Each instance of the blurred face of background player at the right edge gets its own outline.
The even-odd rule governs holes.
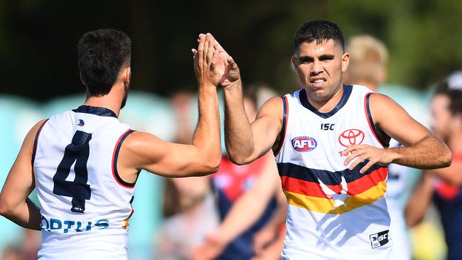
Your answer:
[[[436,94],[431,100],[431,131],[444,141],[448,141],[448,131],[450,129],[451,112],[449,102],[449,97],[445,94]]]

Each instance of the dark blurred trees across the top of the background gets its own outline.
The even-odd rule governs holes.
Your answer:
[[[462,67],[462,2],[406,1],[58,1],[0,0],[2,92],[45,100],[82,92],[78,38],[116,28],[133,40],[132,87],[169,95],[195,90],[190,48],[213,33],[245,82],[296,89],[290,57],[304,21],[325,18],[345,37],[369,33],[390,48],[389,82],[424,88]]]

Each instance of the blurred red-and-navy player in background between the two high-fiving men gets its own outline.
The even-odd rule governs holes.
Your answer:
[[[269,88],[246,88],[244,105],[249,121],[257,115],[260,90]],[[212,175],[212,185],[222,224],[195,249],[193,259],[280,259],[286,199],[271,152],[245,166],[223,156],[220,170]]]

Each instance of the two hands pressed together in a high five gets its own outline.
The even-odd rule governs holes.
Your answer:
[[[212,84],[224,88],[240,84],[239,67],[212,34],[200,33],[198,49],[192,49],[195,77],[200,86]]]

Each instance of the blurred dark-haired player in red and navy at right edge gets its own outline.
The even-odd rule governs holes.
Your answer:
[[[453,152],[448,168],[425,170],[406,208],[409,226],[421,222],[433,199],[448,246],[447,259],[462,259],[462,72],[438,85],[431,101],[431,129]]]

